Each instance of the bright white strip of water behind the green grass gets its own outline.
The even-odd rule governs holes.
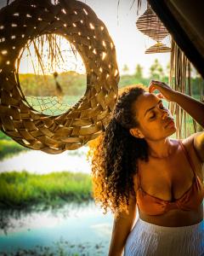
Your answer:
[[[87,160],[88,147],[67,150],[61,154],[47,154],[39,150],[29,150],[0,161],[0,172],[27,172],[45,174],[48,172],[91,172]]]

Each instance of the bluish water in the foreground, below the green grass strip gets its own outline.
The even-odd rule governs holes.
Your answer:
[[[94,202],[78,207],[68,204],[57,211],[30,212],[19,216],[1,212],[1,225],[4,223],[5,226],[0,228],[0,252],[24,250],[26,254],[22,255],[27,255],[27,250],[49,248],[54,251],[61,247],[65,253],[106,255],[112,222],[111,213],[104,215]],[[54,255],[58,254],[55,252]]]

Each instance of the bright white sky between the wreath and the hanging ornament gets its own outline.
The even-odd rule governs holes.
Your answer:
[[[164,69],[167,67],[170,61],[169,53],[144,54],[145,49],[156,44],[156,41],[139,32],[135,25],[139,15],[142,15],[146,8],[145,0],[142,1],[139,15],[137,15],[137,0],[82,0],[82,2],[88,4],[105,23],[116,46],[117,65],[121,74],[124,65],[129,68],[129,73],[134,73],[136,65],[140,64],[144,67],[144,77],[148,77],[150,66],[155,59],[159,60]],[[5,4],[6,0],[0,0],[0,8]],[[167,37],[166,43],[170,44],[170,36]],[[23,66],[22,69],[25,70],[25,67]]]

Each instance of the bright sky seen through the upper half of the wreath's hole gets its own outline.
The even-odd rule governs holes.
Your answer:
[[[75,71],[86,73],[82,57],[66,38],[43,35],[36,38],[20,53],[19,73],[48,74]],[[17,68],[17,63],[16,63]]]

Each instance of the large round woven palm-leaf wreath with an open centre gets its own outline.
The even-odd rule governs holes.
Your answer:
[[[87,72],[87,90],[66,113],[48,116],[26,102],[15,61],[29,40],[59,34],[73,44]],[[50,154],[98,137],[116,103],[116,50],[104,23],[87,4],[15,0],[0,10],[0,128],[17,143]]]

